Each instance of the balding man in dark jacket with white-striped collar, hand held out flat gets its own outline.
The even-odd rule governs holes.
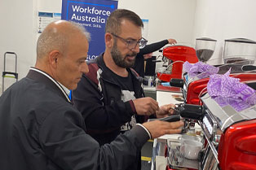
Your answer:
[[[55,21],[38,38],[37,62],[0,98],[0,169],[127,169],[145,142],[179,133],[182,122],[138,124],[99,147],[86,134],[82,114],[68,99],[82,73],[90,34],[77,24]]]

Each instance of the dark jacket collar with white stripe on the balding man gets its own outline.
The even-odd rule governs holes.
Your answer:
[[[34,81],[40,81],[41,83],[51,87],[56,94],[58,94],[61,98],[64,98],[67,102],[71,103],[70,99],[68,98],[68,94],[65,92],[60,83],[55,81],[55,79],[46,72],[43,72],[38,68],[30,68],[26,77],[33,79]]]

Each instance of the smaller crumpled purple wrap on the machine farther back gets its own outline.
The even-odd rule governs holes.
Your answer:
[[[203,79],[216,74],[218,72],[218,68],[207,63],[197,62],[192,64],[186,61],[183,63],[183,71],[188,72],[188,76],[191,78],[197,76],[199,79]]]

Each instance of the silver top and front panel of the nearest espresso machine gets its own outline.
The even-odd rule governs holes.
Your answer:
[[[203,119],[198,123],[204,132],[207,146],[205,149],[204,157],[201,161],[199,169],[219,169],[218,168],[218,142],[220,137],[225,133],[225,130],[245,120],[256,119],[256,106],[249,107],[244,111],[236,111],[231,106],[220,107],[209,94],[201,97],[205,114]]]

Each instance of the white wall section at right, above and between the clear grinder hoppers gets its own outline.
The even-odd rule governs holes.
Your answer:
[[[209,63],[223,63],[225,39],[244,37],[256,41],[255,7],[255,0],[196,0],[193,39],[217,40]]]

